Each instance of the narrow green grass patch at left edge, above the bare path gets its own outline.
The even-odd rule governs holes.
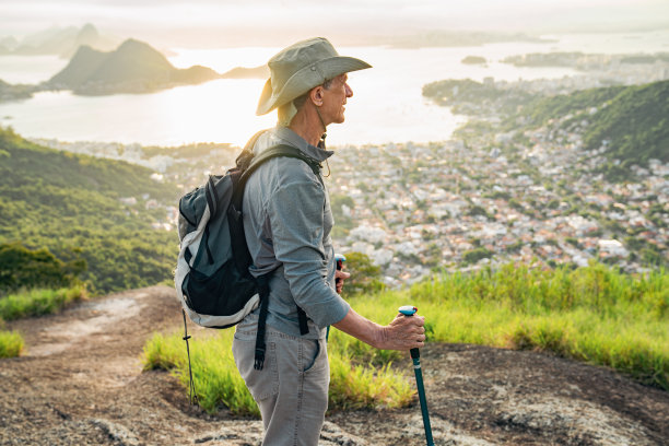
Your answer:
[[[74,285],[60,290],[27,290],[0,297],[0,318],[13,320],[22,317],[56,313],[73,301],[86,298],[86,289]]]

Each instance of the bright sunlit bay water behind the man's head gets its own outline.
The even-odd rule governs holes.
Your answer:
[[[491,44],[471,48],[395,49],[339,48],[374,66],[350,74],[354,96],[347,105],[347,121],[330,126],[333,145],[384,142],[441,141],[450,137],[465,117],[454,116],[421,95],[425,83],[442,79],[481,81],[555,79],[571,69],[516,68],[501,63],[506,56],[555,50],[585,52],[668,51],[669,33],[562,36],[548,44]],[[179,68],[192,64],[225,72],[234,67],[265,63],[279,48],[214,50],[173,49]],[[485,66],[467,66],[466,56],[482,56]],[[37,83],[49,79],[67,61],[56,57],[0,57],[0,79],[10,83]],[[0,104],[0,124],[28,138],[63,141],[116,141],[176,145],[190,142],[243,144],[260,128],[271,127],[275,114],[255,116],[263,80],[216,80],[152,94],[77,96],[45,92],[31,99]]]

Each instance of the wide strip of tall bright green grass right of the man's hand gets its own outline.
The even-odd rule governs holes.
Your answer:
[[[413,304],[432,342],[550,351],[669,390],[669,275],[602,265],[570,270],[507,265],[447,274],[352,305],[374,320]],[[362,305],[361,305],[362,304]]]

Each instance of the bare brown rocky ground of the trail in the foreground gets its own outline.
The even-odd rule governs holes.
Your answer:
[[[206,415],[167,373],[141,372],[145,340],[180,317],[173,290],[154,286],[8,324],[26,352],[0,361],[0,445],[259,445],[258,421]],[[422,363],[437,445],[669,445],[669,392],[605,368],[459,344],[431,344]],[[424,444],[418,404],[330,413],[321,435]]]

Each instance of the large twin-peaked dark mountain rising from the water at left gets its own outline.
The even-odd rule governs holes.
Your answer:
[[[145,93],[218,78],[220,74],[207,67],[177,69],[150,45],[128,39],[110,52],[80,47],[47,86],[92,95]]]

